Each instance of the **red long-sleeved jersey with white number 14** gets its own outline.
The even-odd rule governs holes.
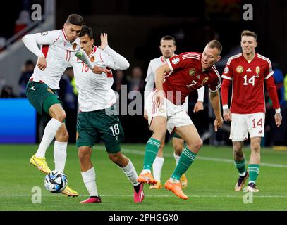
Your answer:
[[[224,79],[221,88],[222,104],[228,104],[228,87],[232,81],[231,113],[264,113],[264,80],[266,80],[274,108],[280,108],[277,94],[274,96],[276,87],[273,73],[270,60],[257,53],[249,63],[242,53],[232,56],[228,59],[222,75]]]

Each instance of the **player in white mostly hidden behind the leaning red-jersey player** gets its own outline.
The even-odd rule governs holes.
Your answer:
[[[159,49],[161,51],[162,56],[159,58],[154,58],[150,60],[148,69],[147,69],[147,77],[145,81],[147,84],[145,85],[145,100],[149,93],[154,89],[154,76],[156,74],[157,68],[159,66],[166,63],[167,58],[171,58],[175,55],[176,51],[176,39],[170,35],[166,35],[161,38],[160,40],[160,46]],[[203,99],[204,99],[204,86],[202,88],[197,89],[197,103],[195,104],[195,107],[193,108],[193,112],[199,112],[200,110],[203,110]],[[183,104],[183,108],[186,112],[188,112],[188,96],[185,98],[185,103]],[[145,119],[147,119],[147,113],[145,109]],[[173,156],[176,160],[176,164],[178,164],[178,160],[181,156],[181,152],[183,151],[183,139],[181,139],[181,136],[178,136],[175,132],[171,134],[173,137],[172,143],[173,143]],[[152,164],[152,172],[154,174],[154,179],[157,180],[157,184],[154,184],[149,187],[149,189],[160,189],[162,188],[161,185],[161,169],[164,165],[164,157],[163,157],[163,150],[164,150],[164,143],[165,143],[165,136],[164,139],[161,140],[161,145],[159,146],[159,151],[157,153],[157,157],[154,160],[154,163]],[[188,179],[186,179],[185,174],[181,176],[181,186],[182,188],[186,188],[188,185]]]

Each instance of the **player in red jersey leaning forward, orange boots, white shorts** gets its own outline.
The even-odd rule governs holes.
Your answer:
[[[210,41],[203,53],[186,52],[166,59],[166,63],[156,70],[156,89],[147,96],[145,108],[152,137],[147,141],[143,170],[138,176],[140,183],[157,184],[151,174],[152,163],[157,156],[161,140],[173,131],[187,143],[181,153],[171,178],[164,187],[179,198],[188,199],[182,189],[180,178],[193,163],[197,152],[202,147],[202,140],[195,125],[183,109],[185,97],[200,87],[208,85],[210,101],[216,119],[214,129],[217,131],[223,124],[220,110],[219,88],[221,77],[214,63],[220,59],[222,46],[219,41]]]

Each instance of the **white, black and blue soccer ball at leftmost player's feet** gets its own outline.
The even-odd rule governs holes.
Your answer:
[[[44,186],[51,193],[59,193],[63,191],[67,184],[67,176],[57,170],[53,170],[45,176]]]

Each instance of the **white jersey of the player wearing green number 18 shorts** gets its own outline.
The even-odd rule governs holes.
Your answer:
[[[111,69],[126,70],[129,67],[126,58],[123,58],[109,46],[106,46],[104,50],[94,46],[88,58],[92,65],[106,68],[109,73],[94,74],[85,63],[77,57],[73,58],[72,65],[81,112],[102,110],[114,105],[116,95],[114,90],[111,89],[114,82]]]

